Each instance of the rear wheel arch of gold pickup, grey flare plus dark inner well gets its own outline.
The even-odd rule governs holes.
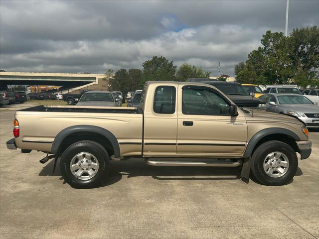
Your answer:
[[[103,142],[105,142],[112,147],[115,157],[120,157],[120,146],[114,134],[105,128],[94,125],[74,125],[63,129],[55,136],[52,143],[51,152],[54,154],[59,153],[63,142],[65,142],[68,137],[75,135],[80,135],[76,141],[92,140],[101,143],[102,145]],[[94,140],[94,138],[98,140]],[[106,147],[105,143],[103,145],[104,147]],[[108,151],[109,148],[106,147],[106,149]]]

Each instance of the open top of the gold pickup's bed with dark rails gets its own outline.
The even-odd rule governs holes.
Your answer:
[[[70,112],[70,113],[114,113],[142,114],[134,107],[95,107],[95,106],[35,106],[19,111],[26,112]]]

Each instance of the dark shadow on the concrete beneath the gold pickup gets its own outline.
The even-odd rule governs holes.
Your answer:
[[[59,179],[63,180],[59,170],[59,160],[55,172],[52,172],[53,161],[51,160],[43,167],[39,176],[60,176]],[[125,176],[127,178],[151,176],[156,180],[239,180],[241,178],[240,173],[241,167],[150,166],[144,162],[144,159],[132,158],[127,161],[111,161],[109,175],[100,187],[117,183]],[[302,174],[302,170],[298,168],[296,176]]]

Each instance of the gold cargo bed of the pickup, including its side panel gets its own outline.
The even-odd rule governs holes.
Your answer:
[[[143,114],[137,108],[36,106],[16,111],[15,119],[20,124],[20,135],[15,138],[15,144],[21,149],[51,152],[58,133],[86,125],[114,134],[122,156],[141,155],[142,152]]]

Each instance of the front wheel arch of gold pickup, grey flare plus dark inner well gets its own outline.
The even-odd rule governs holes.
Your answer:
[[[292,146],[292,148],[294,148],[294,150],[297,152],[298,147],[296,141],[300,141],[301,139],[295,132],[287,128],[265,128],[258,131],[249,140],[243,157],[249,158],[258,145],[269,140],[283,141]]]

